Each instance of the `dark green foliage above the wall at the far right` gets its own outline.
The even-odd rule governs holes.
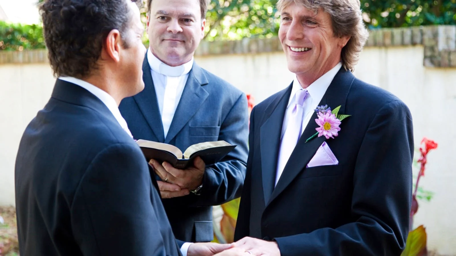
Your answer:
[[[456,0],[361,0],[369,28],[456,24]]]

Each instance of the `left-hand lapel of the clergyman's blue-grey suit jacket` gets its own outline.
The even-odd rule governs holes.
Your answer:
[[[163,132],[160,108],[158,107],[157,94],[155,93],[154,81],[152,80],[152,74],[150,73],[147,55],[143,62],[143,80],[144,90],[133,96],[133,98],[135,99],[136,104],[138,104],[140,111],[150,128],[155,133],[158,142],[164,142],[165,132]]]

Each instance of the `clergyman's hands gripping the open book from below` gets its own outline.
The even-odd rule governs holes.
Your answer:
[[[202,184],[206,169],[206,164],[200,157],[195,158],[193,166],[188,169],[176,169],[167,162],[160,164],[154,159],[150,159],[149,164],[162,180],[157,181],[161,198],[188,195],[190,190],[196,189]]]

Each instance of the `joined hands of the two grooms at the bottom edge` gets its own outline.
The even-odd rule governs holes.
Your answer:
[[[231,244],[195,243],[187,256],[280,256],[280,251],[276,242],[244,237]]]

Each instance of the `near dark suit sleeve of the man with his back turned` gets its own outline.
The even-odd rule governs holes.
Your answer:
[[[115,144],[99,153],[71,205],[73,234],[82,254],[165,256],[160,231],[169,223],[157,219],[154,208],[163,206],[152,193],[156,191],[138,148]]]

